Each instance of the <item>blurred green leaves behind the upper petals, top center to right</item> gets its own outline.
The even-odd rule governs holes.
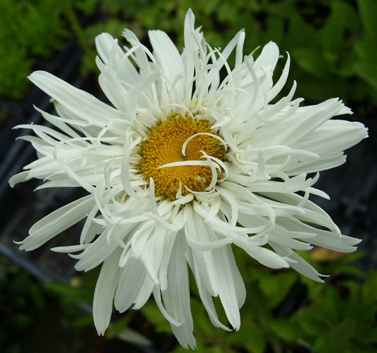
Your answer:
[[[362,102],[377,104],[375,7],[369,0],[103,0],[100,9],[108,21],[93,28],[110,28],[117,37],[130,28],[144,41],[149,29],[159,28],[182,48],[182,23],[192,8],[212,46],[224,47],[241,28],[246,30],[245,52],[274,40],[284,56],[291,54],[298,96],[309,101],[340,96],[362,113]],[[87,30],[90,37],[93,28]]]

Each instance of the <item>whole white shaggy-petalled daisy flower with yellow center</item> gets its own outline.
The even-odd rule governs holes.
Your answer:
[[[355,250],[359,240],[308,197],[327,197],[313,188],[318,172],[344,163],[343,151],[367,135],[361,123],[330,120],[351,113],[339,99],[299,106],[296,82],[276,99],[289,72],[287,56],[273,82],[276,44],[244,56],[241,30],[224,50],[212,48],[194,20],[188,11],[182,53],[160,30],[149,32],[152,50],[130,30],[124,48],[98,35],[99,83],[112,106],[47,72],[31,74],[57,116],[37,108],[53,128],[18,126],[37,135],[24,139],[38,159],[10,180],[88,192],[35,223],[20,249],[85,219],[79,245],[53,250],[78,259],[79,271],[102,265],[93,300],[100,334],[113,305],[141,308],[153,294],[180,344],[192,348],[189,268],[211,323],[238,330],[246,293],[232,245],[250,261],[315,281],[321,275],[295,250]],[[216,296],[230,327],[216,315]]]

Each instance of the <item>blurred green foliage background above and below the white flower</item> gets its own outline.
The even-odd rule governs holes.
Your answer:
[[[147,31],[158,28],[182,48],[190,7],[213,47],[224,47],[245,28],[245,54],[269,40],[282,55],[289,52],[289,82],[297,80],[296,96],[306,102],[339,96],[358,116],[376,114],[374,0],[1,0],[1,103],[22,103],[31,89],[28,74],[47,69],[69,40],[81,47],[82,77],[97,74],[94,38],[103,31],[120,38],[130,28],[145,42]],[[332,273],[323,285],[294,271],[259,267],[235,251],[248,288],[241,329],[213,327],[193,285],[199,352],[377,351],[377,272],[356,267],[362,252],[304,254],[321,273]],[[115,315],[108,334],[97,337],[91,313],[83,310],[92,301],[95,271],[63,285],[37,281],[6,257],[0,258],[0,269],[0,352],[185,352],[175,347],[153,301],[141,311]]]

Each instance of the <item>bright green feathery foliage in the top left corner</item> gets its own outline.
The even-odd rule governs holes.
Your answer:
[[[0,1],[0,95],[20,99],[38,57],[51,57],[68,35],[59,1]]]

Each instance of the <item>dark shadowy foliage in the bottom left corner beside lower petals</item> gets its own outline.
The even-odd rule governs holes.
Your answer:
[[[92,303],[97,277],[93,270],[69,285],[45,284],[0,254],[0,352],[52,352],[51,347],[57,353],[129,352],[112,338],[142,342],[124,330],[136,313],[132,310],[113,320],[106,338],[98,337],[93,315],[80,308]]]

